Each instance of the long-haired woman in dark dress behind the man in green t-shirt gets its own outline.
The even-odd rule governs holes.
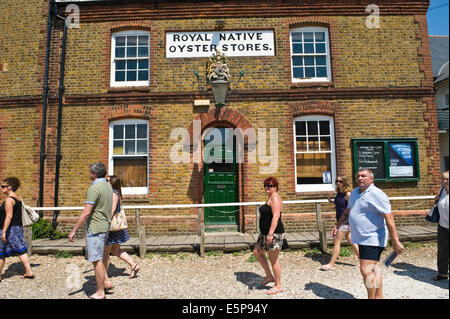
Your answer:
[[[113,208],[112,208],[112,216],[114,214],[120,213],[120,206],[122,205],[122,190],[121,190],[121,182],[120,178],[116,175],[112,175],[109,178],[109,183],[113,189]],[[103,264],[105,265],[105,269],[108,272],[108,268],[110,265],[109,255],[112,253],[114,256],[119,257],[123,261],[125,261],[131,267],[130,278],[136,277],[140,267],[136,264],[133,259],[128,255],[125,251],[120,249],[120,245],[125,243],[128,239],[130,239],[130,235],[126,229],[119,231],[110,231],[108,235],[108,240],[105,246],[105,252],[103,254]],[[105,287],[112,287],[109,278],[105,280]]]

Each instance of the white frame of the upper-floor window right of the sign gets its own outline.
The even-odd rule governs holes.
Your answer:
[[[324,32],[325,33],[325,54],[317,54],[317,53],[295,53],[293,50],[293,42],[292,42],[292,33],[293,32]],[[304,43],[304,42],[303,42]],[[313,42],[315,43],[315,42]],[[325,27],[300,27],[291,29],[289,32],[289,47],[291,51],[291,81],[293,83],[304,83],[304,82],[331,82],[331,59],[330,59],[330,38],[328,34],[328,29]],[[314,78],[294,78],[294,63],[292,61],[293,56],[317,56],[324,55],[326,57],[327,64],[327,77],[314,77]]]

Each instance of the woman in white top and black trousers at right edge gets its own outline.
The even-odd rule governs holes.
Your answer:
[[[443,189],[441,196],[436,196],[439,209],[438,226],[438,274],[433,280],[448,279],[449,256],[448,256],[448,171],[442,173]]]

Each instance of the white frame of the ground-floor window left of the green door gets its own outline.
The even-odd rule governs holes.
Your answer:
[[[127,125],[127,124],[146,124],[147,125],[147,154],[146,155],[114,155],[114,126],[115,125]],[[147,186],[145,187],[122,187],[123,195],[146,195],[148,194],[149,187],[149,125],[148,121],[140,119],[127,119],[127,120],[117,120],[109,123],[109,165],[108,174],[114,175],[114,158],[133,158],[133,157],[147,157]],[[125,145],[124,145],[125,147]]]

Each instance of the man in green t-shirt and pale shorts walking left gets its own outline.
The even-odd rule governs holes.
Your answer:
[[[90,178],[93,182],[87,191],[84,209],[69,235],[69,241],[73,242],[77,230],[86,223],[86,251],[88,260],[94,264],[97,281],[97,292],[89,296],[92,299],[104,299],[105,288],[111,288],[105,287],[106,270],[102,261],[111,223],[113,201],[112,187],[105,177],[106,167],[103,163],[98,162],[90,166]]]

